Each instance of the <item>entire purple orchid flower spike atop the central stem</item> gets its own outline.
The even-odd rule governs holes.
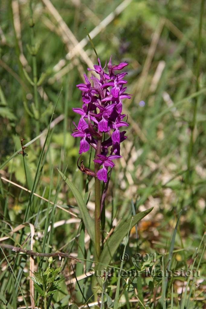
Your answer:
[[[116,74],[116,71],[122,70],[127,65],[127,62],[112,65],[110,57],[106,72],[106,63],[102,67],[98,58],[98,64],[94,65],[94,69],[88,70],[95,71],[99,74],[99,78],[92,75],[90,82],[84,74],[85,83],[77,85],[82,91],[83,105],[82,108],[73,108],[73,111],[80,115],[80,119],[77,126],[74,123],[75,130],[71,135],[80,137],[79,154],[87,152],[90,146],[95,149],[95,172],[92,173],[83,163],[78,167],[84,173],[104,182],[107,181],[108,168],[114,167],[113,160],[121,158],[120,144],[127,138],[126,131],[120,131],[121,127],[128,126],[127,121],[123,121],[126,115],[122,114],[122,100],[131,98],[126,93],[127,87],[124,87],[127,83],[124,79],[127,72]],[[103,132],[104,141],[102,141]],[[102,165],[102,168],[99,169],[96,163]]]

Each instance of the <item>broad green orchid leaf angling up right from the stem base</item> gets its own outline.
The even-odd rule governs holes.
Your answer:
[[[131,223],[131,228],[135,226],[142,218],[144,218],[147,214],[149,214],[152,211],[153,207],[150,209],[147,209],[145,211],[140,212],[139,214],[136,214],[133,216],[133,220]],[[99,262],[102,264],[109,264],[112,257],[114,256],[114,253],[117,251],[120,243],[122,242],[122,239],[127,235],[128,229],[130,227],[131,218],[129,218],[126,222],[123,222],[121,226],[117,227],[117,229],[114,231],[113,235],[107,240],[105,243],[105,247],[101,253]],[[97,270],[103,269],[104,265],[98,265]]]

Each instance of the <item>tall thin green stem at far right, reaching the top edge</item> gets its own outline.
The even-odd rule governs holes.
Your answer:
[[[198,56],[197,56],[197,66],[196,66],[196,91],[199,91],[199,75],[200,75],[200,54],[201,54],[201,43],[202,43],[202,22],[203,22],[203,14],[204,14],[204,2],[205,0],[201,1],[200,6],[200,23],[199,23],[199,35],[198,35]],[[188,150],[188,159],[187,159],[187,177],[186,177],[186,183],[189,183],[190,180],[190,169],[191,169],[191,157],[193,153],[193,147],[194,147],[194,132],[195,132],[195,125],[196,125],[196,117],[197,117],[197,104],[198,104],[197,97],[195,99],[194,109],[193,109],[193,119],[191,122],[191,136],[190,136],[190,144],[189,144],[189,150]]]

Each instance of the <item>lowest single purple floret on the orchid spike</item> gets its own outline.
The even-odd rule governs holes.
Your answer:
[[[99,159],[94,159],[93,161],[96,163],[99,163],[103,167],[97,172],[97,178],[99,180],[103,180],[104,182],[107,182],[107,171],[108,167],[111,168],[115,166],[115,164],[112,162],[114,159],[122,158],[121,155],[109,155],[108,157],[105,155],[98,155]]]

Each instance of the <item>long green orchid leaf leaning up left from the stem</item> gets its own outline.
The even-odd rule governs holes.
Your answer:
[[[57,169],[58,170],[58,169]],[[87,205],[85,204],[81,193],[79,192],[79,190],[75,187],[74,184],[72,184],[72,182],[70,180],[68,180],[68,178],[61,172],[59,171],[59,174],[62,176],[63,180],[66,181],[67,185],[69,186],[71,192],[73,193],[75,200],[77,202],[77,205],[79,206],[79,210],[82,216],[82,220],[84,222],[84,225],[86,227],[86,230],[90,236],[90,238],[92,239],[93,243],[94,243],[94,221],[92,220],[88,209],[87,209]]]

